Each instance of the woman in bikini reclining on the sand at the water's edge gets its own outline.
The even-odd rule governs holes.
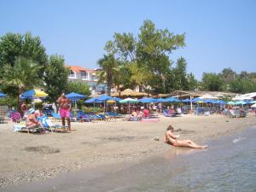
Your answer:
[[[164,137],[164,143],[173,145],[175,147],[185,147],[185,148],[207,148],[207,145],[198,145],[190,140],[177,140],[179,135],[175,136],[173,134],[174,128],[172,125],[169,125],[166,129],[166,134]]]

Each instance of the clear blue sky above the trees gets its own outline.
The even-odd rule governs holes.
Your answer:
[[[0,0],[0,36],[32,32],[47,54],[64,55],[69,65],[95,68],[114,32],[137,34],[143,20],[186,33],[183,56],[188,72],[231,67],[256,72],[256,1],[240,0]]]

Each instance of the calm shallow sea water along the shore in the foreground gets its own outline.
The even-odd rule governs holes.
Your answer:
[[[206,150],[175,148],[137,165],[69,173],[4,191],[256,191],[256,127],[207,144]]]

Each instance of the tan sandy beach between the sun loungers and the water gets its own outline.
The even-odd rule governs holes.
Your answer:
[[[199,144],[229,136],[256,125],[255,114],[231,119],[223,115],[163,117],[155,122],[73,123],[71,133],[27,134],[13,132],[14,123],[0,125],[0,185],[27,183],[102,165],[136,163],[173,147],[163,143],[167,125],[181,139]],[[160,141],[156,141],[159,137]],[[211,150],[209,146],[208,150]]]

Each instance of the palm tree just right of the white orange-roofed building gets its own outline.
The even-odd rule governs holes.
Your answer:
[[[111,94],[111,89],[115,84],[119,86],[120,82],[120,67],[119,61],[114,58],[113,55],[104,55],[102,59],[98,61],[100,70],[96,73],[99,78],[97,84],[107,83],[108,96]]]

